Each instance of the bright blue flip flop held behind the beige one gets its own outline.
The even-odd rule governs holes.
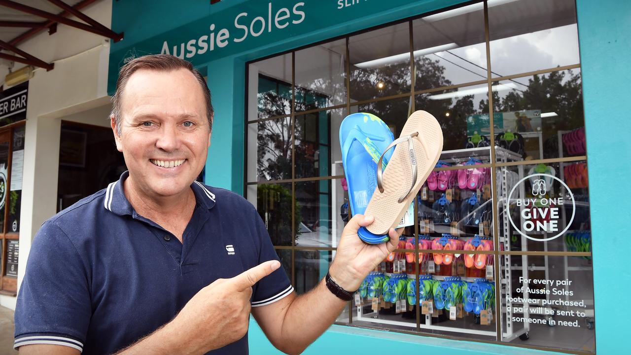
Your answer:
[[[339,127],[339,143],[342,148],[342,164],[348,183],[348,199],[353,214],[363,214],[377,188],[377,161],[394,141],[390,128],[374,114],[356,113],[346,116]],[[384,155],[386,161],[393,150]],[[368,244],[386,243],[390,238],[361,227],[357,232]]]

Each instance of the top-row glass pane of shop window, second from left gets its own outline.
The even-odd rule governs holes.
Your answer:
[[[346,40],[297,51],[296,111],[346,104]]]

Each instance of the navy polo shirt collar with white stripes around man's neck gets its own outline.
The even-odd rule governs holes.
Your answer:
[[[110,183],[105,190],[103,207],[117,215],[133,215],[134,213],[134,208],[123,191],[123,183],[127,178],[129,178],[129,171],[123,172],[121,178],[114,181],[114,183]],[[198,205],[208,209],[215,207],[215,194],[211,193],[204,184],[193,181],[191,189],[195,194],[195,200]]]

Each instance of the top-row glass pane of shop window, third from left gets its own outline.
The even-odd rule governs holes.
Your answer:
[[[350,37],[351,103],[410,92],[410,25]]]

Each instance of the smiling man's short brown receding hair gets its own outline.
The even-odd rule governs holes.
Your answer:
[[[204,93],[204,99],[206,100],[206,117],[208,118],[208,127],[213,130],[213,116],[215,111],[213,110],[213,104],[211,102],[210,90],[206,85],[206,80],[199,73],[198,69],[193,68],[192,64],[184,59],[180,59],[168,54],[150,54],[147,56],[138,57],[129,61],[129,63],[122,66],[119,71],[119,78],[116,81],[116,91],[112,96],[112,112],[110,117],[114,117],[116,121],[117,134],[121,135],[121,101],[122,94],[124,92],[125,85],[129,77],[136,73],[139,69],[149,69],[155,71],[174,71],[177,69],[187,69],[198,80],[199,87]]]

